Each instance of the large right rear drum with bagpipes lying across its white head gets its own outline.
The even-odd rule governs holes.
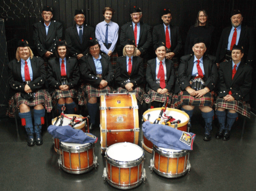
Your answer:
[[[154,121],[158,118],[160,111],[161,111],[161,108],[153,108],[151,110],[145,111],[143,114],[143,120],[147,121],[147,116],[148,116],[148,114],[150,114],[149,121],[150,121],[150,123],[154,123]],[[164,114],[167,117],[164,117]],[[164,112],[164,114],[162,115],[162,118],[158,124],[162,124],[162,122],[165,121],[168,118],[168,116],[172,116],[175,119],[175,121],[181,120],[181,122],[179,124],[176,124],[176,125],[172,124],[169,126],[179,129],[181,131],[188,132],[188,121],[189,121],[188,114],[186,114],[184,111],[172,109],[172,108],[166,108],[166,111]],[[143,133],[142,133],[142,136],[143,136],[142,137],[143,148],[147,152],[152,153],[153,152],[153,143],[151,143],[151,141],[147,140],[147,138],[143,135]]]

